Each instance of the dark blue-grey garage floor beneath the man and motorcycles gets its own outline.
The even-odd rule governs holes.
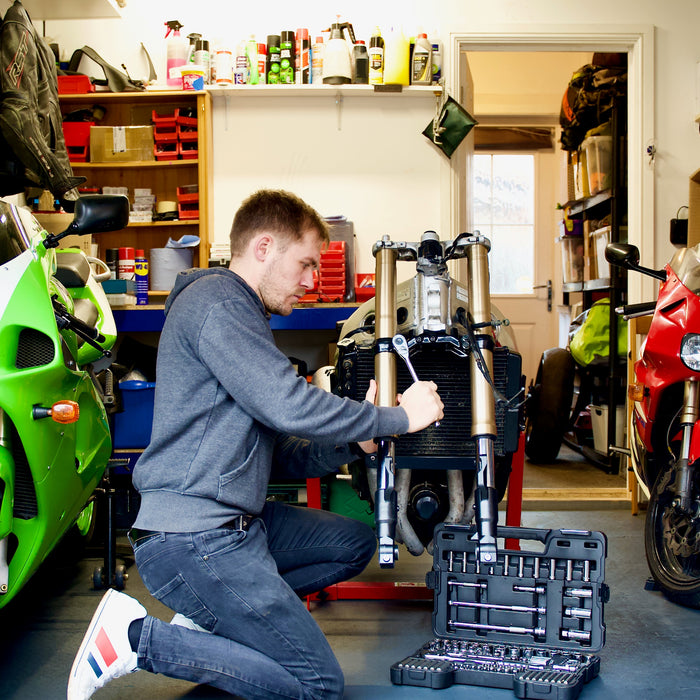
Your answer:
[[[584,686],[586,700],[697,697],[700,664],[696,645],[700,611],[668,602],[647,591],[642,540],[643,515],[628,509],[524,511],[523,525],[541,528],[601,530],[608,537],[606,582],[611,599],[605,608],[607,641],[599,653],[600,675]],[[8,608],[0,611],[0,698],[54,700],[65,698],[68,672],[86,625],[101,596],[92,590],[98,558],[53,558]],[[402,549],[394,570],[372,565],[368,581],[424,580],[430,558],[411,557]],[[170,613],[152,599],[135,567],[129,569],[126,592],[151,614]],[[432,601],[333,601],[313,603],[312,612],[328,636],[346,676],[349,700],[451,700],[479,697],[504,700],[512,691],[453,686],[429,690],[392,686],[391,664],[432,637]],[[190,683],[138,672],[98,691],[102,700],[126,697],[149,700],[223,698],[223,693]]]

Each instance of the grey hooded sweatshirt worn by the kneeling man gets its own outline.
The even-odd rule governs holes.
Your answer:
[[[401,407],[299,377],[262,301],[231,270],[180,273],[165,313],[153,432],[133,475],[135,527],[199,532],[257,515],[271,475],[323,476],[353,459],[348,443],[408,430]]]

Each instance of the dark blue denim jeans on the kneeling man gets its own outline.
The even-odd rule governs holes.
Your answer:
[[[375,547],[356,520],[276,502],[247,531],[140,540],[136,564],[151,594],[213,634],[149,615],[139,668],[247,700],[342,697],[340,665],[300,596],[360,573]]]

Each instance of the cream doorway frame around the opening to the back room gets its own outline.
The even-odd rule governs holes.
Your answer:
[[[628,55],[627,198],[628,240],[636,245],[650,267],[654,266],[654,170],[646,163],[646,150],[654,144],[654,26],[653,25],[546,25],[492,31],[450,32],[447,89],[460,94],[468,51],[585,51],[624,52]],[[562,95],[566,86],[562,86]],[[468,227],[466,158],[450,161],[449,201],[446,220],[454,235]],[[631,275],[627,285],[630,303],[655,296],[654,282]]]

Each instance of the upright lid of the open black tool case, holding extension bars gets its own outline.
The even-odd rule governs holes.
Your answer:
[[[474,527],[435,529],[433,631],[450,640],[589,653],[605,643],[607,540],[601,532],[498,528],[499,538],[533,541],[478,560]]]

